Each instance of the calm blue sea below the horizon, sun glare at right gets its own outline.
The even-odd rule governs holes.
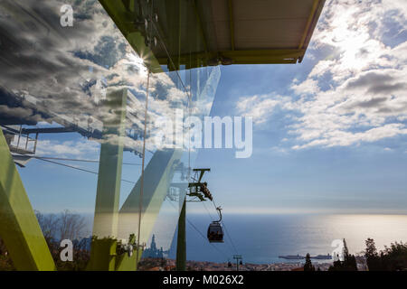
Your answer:
[[[345,238],[351,254],[363,254],[364,241],[374,238],[378,250],[393,242],[407,242],[407,215],[224,215],[224,243],[210,244],[207,215],[189,214],[186,222],[188,260],[244,263],[301,262],[279,256],[333,255]],[[193,225],[191,225],[193,224]],[[176,232],[169,257],[176,256]],[[303,261],[302,261],[303,262]],[[332,262],[332,260],[313,260]]]

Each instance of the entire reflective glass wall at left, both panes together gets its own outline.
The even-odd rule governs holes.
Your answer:
[[[1,154],[24,183],[24,218],[39,220],[29,233],[73,241],[77,269],[111,270],[129,268],[128,241],[144,256],[168,252],[199,149],[191,117],[209,114],[220,70],[201,67],[208,43],[192,1],[101,3],[0,3]],[[134,15],[130,40],[109,5]],[[12,256],[11,236],[30,229],[17,225],[0,236]],[[94,261],[116,239],[116,266]]]

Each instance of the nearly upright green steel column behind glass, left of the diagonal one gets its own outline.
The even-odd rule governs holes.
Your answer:
[[[102,107],[103,143],[90,250],[90,270],[115,270],[127,89],[110,92]]]

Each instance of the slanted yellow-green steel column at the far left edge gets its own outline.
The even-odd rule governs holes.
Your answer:
[[[0,129],[0,237],[17,270],[55,270],[50,250]]]

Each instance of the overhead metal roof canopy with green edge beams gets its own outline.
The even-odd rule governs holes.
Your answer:
[[[167,64],[175,70],[183,64],[194,68],[301,62],[325,4],[325,0],[153,1],[158,16],[153,37],[160,43],[150,53],[145,43],[131,42],[132,33],[147,35],[140,25],[148,17],[147,4],[143,12],[144,1],[99,1],[147,66]]]

